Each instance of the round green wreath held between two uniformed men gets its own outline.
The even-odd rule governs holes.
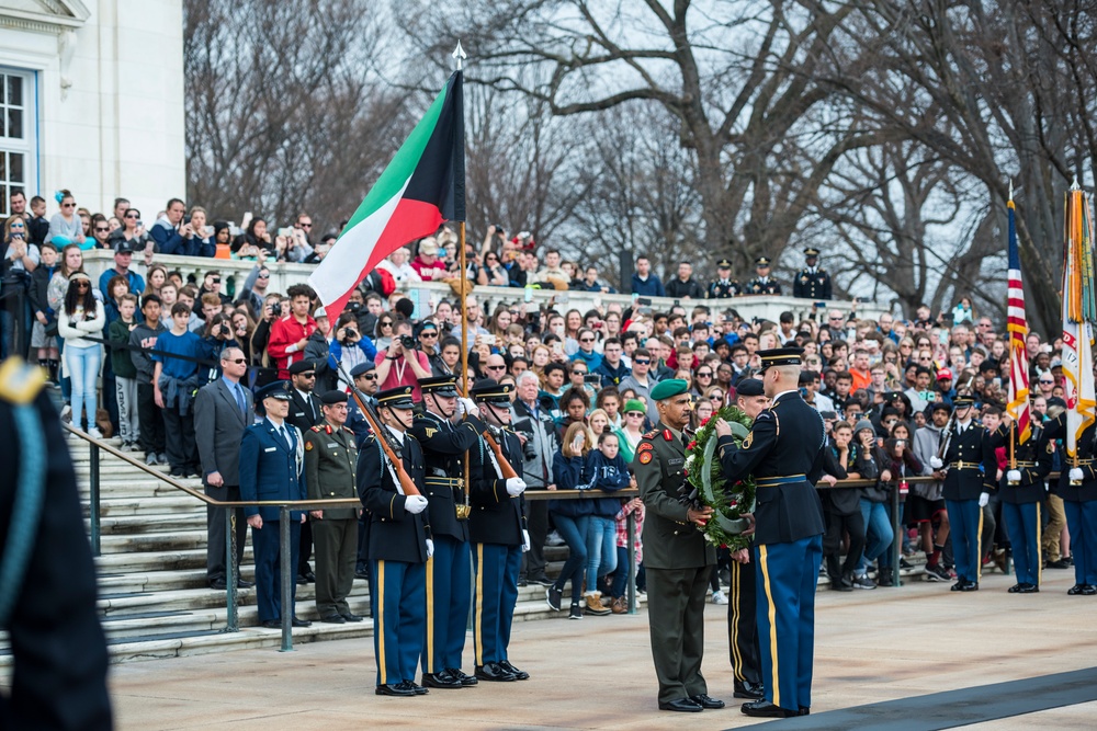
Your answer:
[[[727,484],[716,456],[716,419],[723,419],[731,425],[732,438],[738,446],[743,445],[754,425],[754,420],[734,406],[723,407],[701,422],[693,441],[687,445],[686,479],[697,488],[701,504],[713,511],[712,519],[701,528],[704,539],[736,551],[750,544],[750,536],[742,535],[749,526],[743,514],[754,512],[757,486],[751,477]]]

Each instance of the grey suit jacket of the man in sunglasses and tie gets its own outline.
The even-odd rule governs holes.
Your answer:
[[[194,397],[194,441],[202,460],[202,475],[220,472],[225,484],[240,484],[240,439],[251,424],[255,403],[251,391],[244,390],[245,410],[236,402],[224,378],[206,384]]]

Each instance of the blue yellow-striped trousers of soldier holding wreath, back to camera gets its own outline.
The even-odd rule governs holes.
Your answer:
[[[815,584],[823,562],[823,536],[760,544],[756,558],[758,640],[766,700],[787,710],[810,708]]]

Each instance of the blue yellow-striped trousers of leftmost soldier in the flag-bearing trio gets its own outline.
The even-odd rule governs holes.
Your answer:
[[[374,561],[377,586],[373,650],[377,685],[415,681],[427,629],[427,568],[423,563]]]

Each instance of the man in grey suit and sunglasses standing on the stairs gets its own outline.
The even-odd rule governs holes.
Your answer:
[[[248,361],[239,347],[226,347],[220,353],[222,377],[199,389],[194,397],[194,436],[202,461],[205,492],[214,500],[240,499],[240,437],[251,424],[255,404],[251,391],[241,382]],[[206,506],[206,580],[211,589],[226,586],[225,513],[227,509]],[[255,586],[239,578],[248,523],[242,507],[233,509],[236,528],[236,576],[240,589]]]

